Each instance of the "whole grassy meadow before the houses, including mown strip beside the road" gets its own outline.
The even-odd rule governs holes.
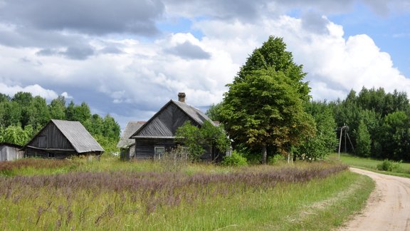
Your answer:
[[[256,165],[0,163],[2,230],[331,230],[374,183],[335,162]]]

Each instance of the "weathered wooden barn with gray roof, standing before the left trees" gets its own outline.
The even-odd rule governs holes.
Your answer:
[[[101,155],[104,149],[78,121],[50,120],[23,148],[24,157]]]

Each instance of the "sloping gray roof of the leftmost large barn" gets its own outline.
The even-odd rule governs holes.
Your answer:
[[[70,141],[77,153],[104,151],[97,140],[88,133],[88,130],[80,122],[68,120],[51,120],[51,122]]]

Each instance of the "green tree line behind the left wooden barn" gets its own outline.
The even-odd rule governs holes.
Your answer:
[[[66,103],[58,96],[50,103],[41,96],[19,92],[10,97],[0,93],[0,142],[25,145],[51,119],[80,121],[106,151],[115,150],[120,138],[120,125],[112,116],[91,114],[83,102]]]

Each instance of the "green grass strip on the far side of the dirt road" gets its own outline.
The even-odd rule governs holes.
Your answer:
[[[337,153],[332,153],[328,156],[328,160],[338,160]],[[340,161],[346,165],[354,168],[362,168],[364,170],[371,170],[376,173],[382,173],[387,175],[396,175],[404,178],[410,178],[410,163],[400,163],[399,168],[389,171],[377,170],[377,165],[383,162],[383,160],[376,160],[372,158],[360,158],[347,153],[340,153]]]

